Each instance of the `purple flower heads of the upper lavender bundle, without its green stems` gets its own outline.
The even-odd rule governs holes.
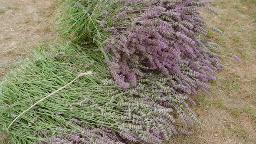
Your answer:
[[[111,33],[104,41],[112,54],[110,72],[122,88],[136,84],[148,69],[158,70],[170,79],[177,92],[196,94],[206,91],[207,81],[220,60],[210,52],[208,42],[198,38],[206,35],[206,23],[197,7],[206,7],[200,0],[124,1],[125,7],[115,16]],[[121,24],[120,24],[121,23]],[[220,31],[211,26],[212,29]]]

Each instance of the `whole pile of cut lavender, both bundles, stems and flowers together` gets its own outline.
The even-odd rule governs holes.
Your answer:
[[[0,89],[13,143],[161,144],[199,124],[189,105],[220,60],[203,39],[201,0],[61,0],[60,32],[79,43],[40,52]],[[223,34],[220,29],[210,29]],[[6,126],[43,96],[93,70]],[[4,118],[4,119],[2,119]]]

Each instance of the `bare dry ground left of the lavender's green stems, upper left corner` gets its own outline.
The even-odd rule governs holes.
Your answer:
[[[54,0],[0,0],[0,77],[38,42],[52,41]]]

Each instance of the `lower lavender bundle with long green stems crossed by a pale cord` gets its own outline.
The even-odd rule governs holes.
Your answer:
[[[162,75],[151,74],[124,90],[95,49],[76,50],[71,44],[54,49],[35,54],[1,86],[0,125],[13,143],[161,144],[173,135],[191,134],[187,125],[200,124],[187,95],[175,93]],[[5,128],[35,101],[88,70],[93,75],[79,78]]]

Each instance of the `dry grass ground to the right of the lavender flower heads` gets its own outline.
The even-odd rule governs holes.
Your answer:
[[[173,141],[256,144],[256,0],[213,0],[211,7],[220,15],[205,13],[203,17],[225,33],[209,33],[208,37],[220,44],[216,52],[226,68],[211,82],[210,95],[194,98],[195,111],[205,126]]]

